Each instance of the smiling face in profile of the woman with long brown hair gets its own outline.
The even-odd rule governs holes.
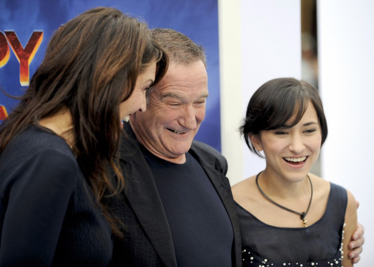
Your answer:
[[[129,116],[137,111],[144,112],[146,110],[145,92],[154,82],[156,73],[156,63],[147,66],[141,74],[139,74],[135,89],[126,101],[119,104],[120,124],[122,120],[129,120]]]

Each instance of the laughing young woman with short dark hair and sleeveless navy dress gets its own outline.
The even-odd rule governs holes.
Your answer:
[[[266,160],[264,171],[232,187],[243,266],[352,266],[355,198],[309,173],[327,138],[317,90],[293,78],[266,82],[251,97],[240,131]]]

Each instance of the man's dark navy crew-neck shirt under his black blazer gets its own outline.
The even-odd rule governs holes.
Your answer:
[[[231,266],[227,252],[233,246],[232,225],[199,162],[190,153],[184,164],[175,164],[143,152],[169,222],[178,266]]]

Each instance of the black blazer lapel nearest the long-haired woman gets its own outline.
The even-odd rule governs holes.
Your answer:
[[[123,169],[126,196],[162,261],[166,266],[176,266],[174,245],[160,195],[130,125],[127,131],[130,140],[122,139],[126,146],[122,146],[119,156],[126,161]]]

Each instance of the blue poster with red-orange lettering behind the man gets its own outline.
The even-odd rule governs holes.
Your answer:
[[[41,63],[53,31],[98,6],[117,8],[150,28],[173,28],[205,48],[209,97],[196,139],[221,151],[217,0],[2,0],[0,87],[4,92],[21,95]],[[18,103],[6,94],[0,91],[0,120]]]

